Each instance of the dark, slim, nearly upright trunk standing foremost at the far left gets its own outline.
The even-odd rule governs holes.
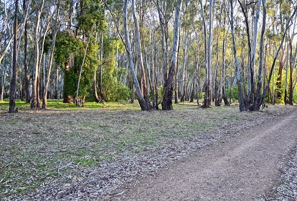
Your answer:
[[[9,97],[9,113],[15,113],[15,93],[16,93],[16,57],[17,57],[17,11],[18,11],[18,0],[15,1],[15,12],[14,12],[14,38],[13,38],[13,58],[12,58],[12,76],[10,82],[10,97]]]

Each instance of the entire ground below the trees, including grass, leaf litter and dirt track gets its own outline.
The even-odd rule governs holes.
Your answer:
[[[296,106],[19,111],[0,113],[1,200],[296,200]]]

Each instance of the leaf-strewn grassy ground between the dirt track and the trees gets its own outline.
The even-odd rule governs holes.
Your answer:
[[[168,168],[201,147],[236,137],[245,128],[276,121],[292,109],[269,106],[239,113],[237,106],[179,105],[173,111],[48,109],[0,114],[0,198],[108,200],[138,178]],[[296,186],[296,180],[290,183]]]

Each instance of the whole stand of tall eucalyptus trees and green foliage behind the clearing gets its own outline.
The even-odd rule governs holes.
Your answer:
[[[1,1],[0,96],[46,108],[138,99],[297,102],[296,1]],[[295,37],[296,38],[296,37]]]

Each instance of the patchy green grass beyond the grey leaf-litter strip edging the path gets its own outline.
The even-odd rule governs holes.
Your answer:
[[[0,102],[0,199],[80,176],[103,161],[141,155],[173,139],[212,136],[262,115],[189,103],[174,104],[173,111],[141,111],[137,102],[76,107],[59,100],[49,100],[47,110],[16,101],[20,112],[7,115],[8,104]],[[72,168],[63,168],[68,164]]]

